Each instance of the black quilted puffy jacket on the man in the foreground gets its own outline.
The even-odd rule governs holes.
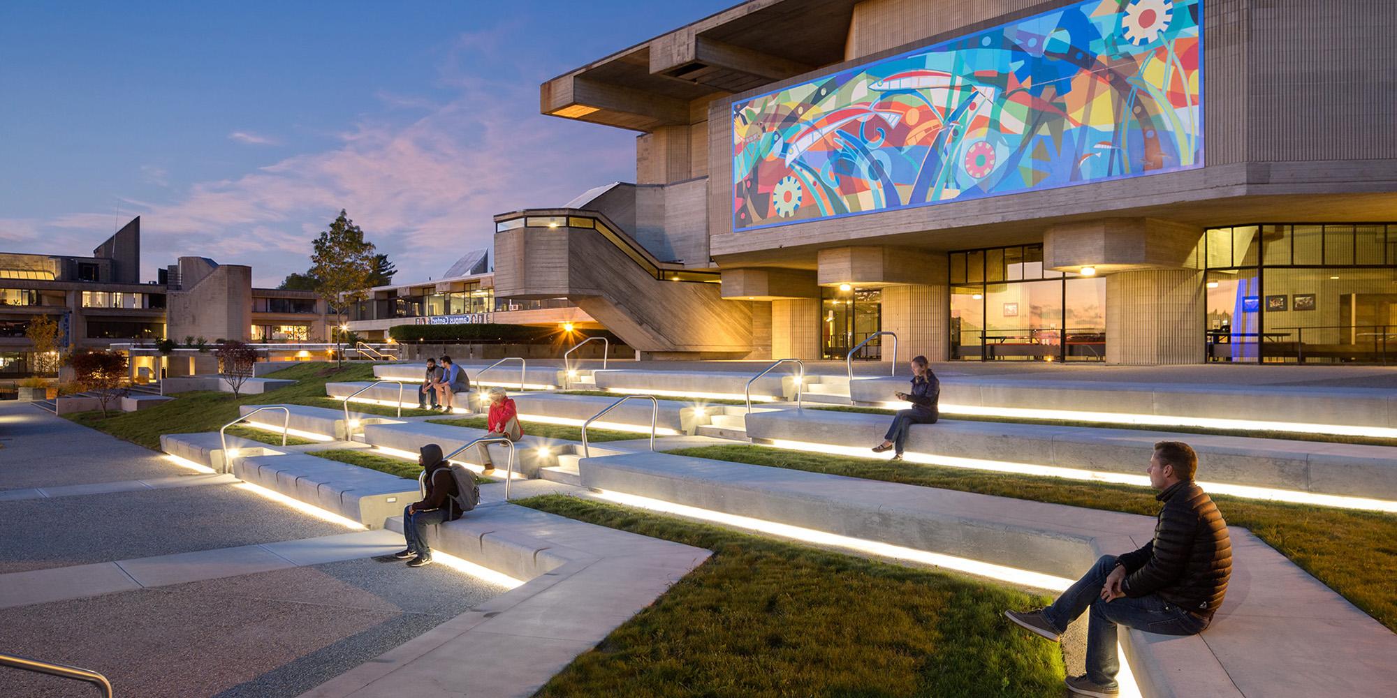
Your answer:
[[[1118,558],[1129,572],[1126,596],[1157,593],[1180,609],[1211,617],[1232,575],[1227,522],[1197,483],[1171,484],[1155,498],[1164,508],[1154,525],[1154,540]]]

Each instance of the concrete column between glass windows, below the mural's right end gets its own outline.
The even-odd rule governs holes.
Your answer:
[[[1106,276],[1106,363],[1203,363],[1203,272],[1127,271]]]

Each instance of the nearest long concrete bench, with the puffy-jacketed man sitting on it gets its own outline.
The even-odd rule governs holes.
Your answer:
[[[583,484],[967,557],[1067,579],[1148,542],[1154,519],[780,468],[657,454],[581,461]],[[1227,512],[1224,511],[1224,515]],[[1201,635],[1120,634],[1146,697],[1387,695],[1397,634],[1248,530]]]

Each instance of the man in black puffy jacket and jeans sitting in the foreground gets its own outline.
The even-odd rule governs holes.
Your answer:
[[[1213,500],[1193,482],[1199,456],[1182,441],[1154,444],[1150,484],[1164,503],[1154,540],[1120,557],[1102,556],[1046,609],[1006,611],[1009,620],[1052,641],[1091,610],[1087,673],[1067,677],[1074,695],[1118,695],[1116,625],[1162,635],[1203,632],[1222,604],[1232,574],[1232,542]]]

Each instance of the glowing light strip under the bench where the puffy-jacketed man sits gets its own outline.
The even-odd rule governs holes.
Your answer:
[[[942,567],[946,570],[956,570],[958,572],[986,577],[990,579],[999,579],[1023,586],[1032,586],[1037,589],[1060,592],[1063,589],[1067,589],[1073,584],[1073,579],[1034,572],[1030,570],[1018,570],[1014,567],[996,565],[990,563],[982,563],[979,560],[970,560],[965,557],[946,556],[940,553],[930,553],[926,550],[916,550],[912,547],[894,546],[890,543],[880,543],[877,540],[840,536],[835,533],[827,533],[824,530],[791,526],[788,524],[778,524],[775,521],[766,521],[750,517],[739,517],[736,514],[726,514],[722,511],[703,510],[698,507],[689,507],[685,504],[675,504],[662,500],[652,500],[650,497],[640,497],[636,494],[624,494],[619,491],[602,490],[599,493],[595,493],[594,496],[601,500],[613,501],[616,504],[623,504],[627,507],[637,507],[643,510],[657,511],[661,514],[672,514],[700,521],[711,521],[714,524],[722,524],[747,530],[757,530],[760,533],[799,540],[802,543],[841,547],[845,550],[855,550],[859,553],[872,554],[877,557],[887,557],[893,560],[908,560],[912,563]],[[1139,698],[1140,687],[1134,680],[1134,674],[1130,671],[1130,663],[1126,659],[1125,651],[1119,646],[1116,648],[1116,656],[1120,658],[1120,674],[1116,676],[1116,681],[1120,683],[1120,695]]]

